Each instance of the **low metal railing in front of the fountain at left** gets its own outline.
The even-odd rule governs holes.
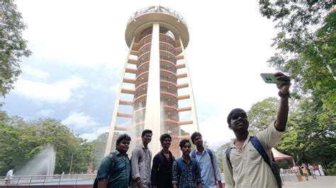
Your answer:
[[[31,175],[0,177],[0,187],[13,186],[45,186],[45,185],[77,185],[94,184],[96,174],[87,175]]]

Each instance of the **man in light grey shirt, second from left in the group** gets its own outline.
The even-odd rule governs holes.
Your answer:
[[[150,172],[152,151],[148,143],[152,141],[152,131],[145,129],[141,134],[142,143],[132,151],[130,163],[132,166],[132,182],[130,187],[150,187]]]

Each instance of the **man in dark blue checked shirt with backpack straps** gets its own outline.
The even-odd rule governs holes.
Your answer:
[[[198,168],[197,162],[190,154],[190,141],[183,139],[179,142],[182,151],[182,157],[173,163],[173,187],[181,188],[201,188],[201,170]]]

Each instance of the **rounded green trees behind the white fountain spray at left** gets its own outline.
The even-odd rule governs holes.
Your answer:
[[[55,119],[26,122],[20,117],[10,117],[0,121],[0,143],[0,175],[6,175],[9,167],[23,167],[48,144],[56,151],[58,174],[69,172],[72,155],[72,171],[86,172],[94,155],[91,143]]]

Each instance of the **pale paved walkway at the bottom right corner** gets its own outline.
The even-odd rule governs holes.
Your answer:
[[[336,188],[336,176],[318,176],[318,179],[313,179],[309,177],[307,181],[304,177],[302,182],[285,182],[283,187],[294,188],[294,187],[323,187],[323,188]]]

